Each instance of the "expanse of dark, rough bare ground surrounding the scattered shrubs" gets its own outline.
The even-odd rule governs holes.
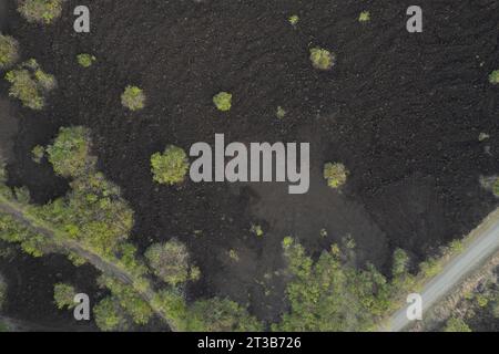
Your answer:
[[[177,237],[189,244],[203,273],[193,298],[228,295],[275,320],[284,306],[274,273],[283,237],[294,235],[317,253],[352,235],[359,263],[387,270],[395,247],[421,260],[497,206],[479,184],[499,167],[499,90],[487,80],[499,66],[497,1],[421,0],[420,34],[405,30],[413,3],[400,0],[85,3],[90,34],[72,30],[81,1],[68,1],[63,19],[43,29],[11,18],[24,58],[37,58],[59,81],[45,111],[20,111],[13,183],[28,185],[40,202],[61,195],[65,183],[33,164],[30,150],[60,126],[91,127],[101,169],[135,210],[135,242],[145,249]],[[371,21],[360,24],[364,9]],[[296,29],[287,22],[293,13]],[[335,51],[333,71],[312,67],[315,45]],[[98,62],[83,70],[75,56],[85,52]],[[128,84],[144,88],[145,110],[121,106]],[[212,104],[220,91],[234,95],[230,113]],[[288,112],[282,121],[279,105]],[[490,139],[479,143],[481,132]],[[215,133],[233,142],[310,142],[310,192],[152,181],[153,153],[211,143]],[[329,160],[352,171],[342,194],[320,177]],[[263,226],[262,239],[249,232],[252,222]]]

